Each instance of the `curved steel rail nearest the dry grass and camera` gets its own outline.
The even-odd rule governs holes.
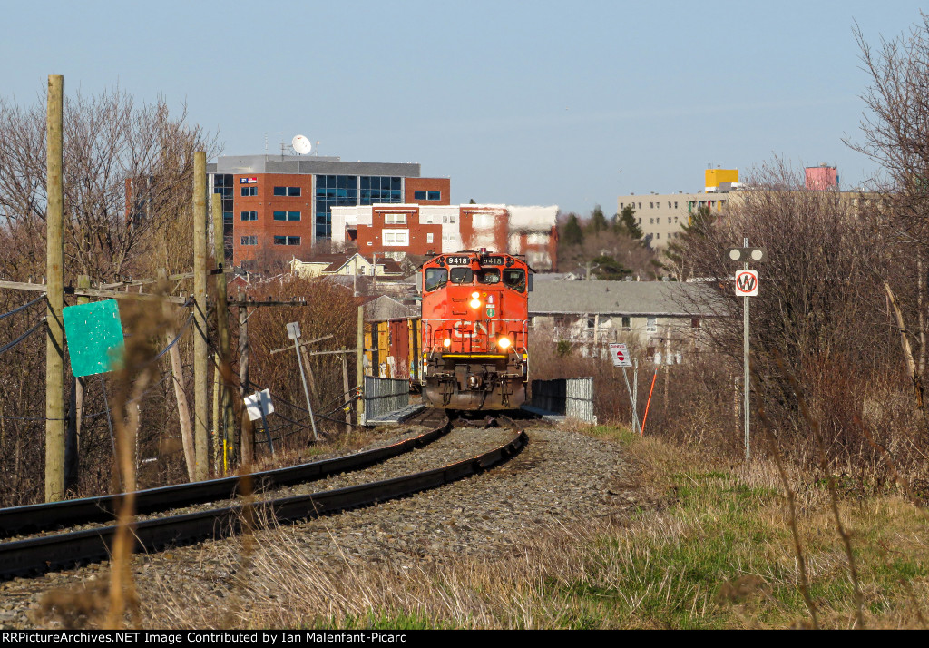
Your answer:
[[[520,430],[510,442],[490,452],[442,468],[306,496],[290,496],[257,502],[254,505],[237,504],[223,509],[146,520],[135,523],[132,533],[139,549],[152,552],[241,533],[242,529],[247,527],[244,522],[246,519],[269,521],[255,524],[256,528],[263,528],[277,522],[317,518],[341,510],[410,496],[464,479],[516,456],[526,443],[529,443],[529,438],[525,431]],[[249,507],[253,510],[249,511]],[[44,574],[77,564],[106,560],[110,557],[111,543],[118,528],[112,525],[0,543],[0,580]]]

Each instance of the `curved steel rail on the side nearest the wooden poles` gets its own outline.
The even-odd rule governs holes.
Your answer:
[[[412,439],[392,443],[354,455],[337,456],[290,468],[253,472],[249,488],[251,492],[268,490],[294,483],[312,482],[329,475],[373,466],[394,456],[409,452],[427,443],[432,443],[451,430],[451,421],[446,420],[434,430],[429,430]],[[244,477],[236,475],[206,482],[182,483],[136,492],[136,512],[154,513],[177,509],[192,504],[203,504],[241,495],[246,490]],[[123,494],[66,499],[60,502],[30,504],[9,509],[0,509],[0,537],[59,529],[88,522],[110,522],[115,520]]]

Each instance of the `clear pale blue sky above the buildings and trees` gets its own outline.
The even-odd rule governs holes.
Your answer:
[[[451,200],[611,214],[629,192],[697,191],[708,164],[774,155],[875,166],[859,139],[868,84],[855,21],[878,44],[912,2],[15,3],[0,92],[37,100],[119,84],[187,104],[227,154],[419,162]]]

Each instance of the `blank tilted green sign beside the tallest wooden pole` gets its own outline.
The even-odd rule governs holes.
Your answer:
[[[93,376],[123,364],[123,323],[115,299],[68,306],[61,312],[75,377]]]

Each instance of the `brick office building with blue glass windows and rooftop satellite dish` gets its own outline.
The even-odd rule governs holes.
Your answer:
[[[247,270],[325,247],[335,206],[449,205],[451,199],[451,180],[421,178],[418,164],[232,155],[207,165],[207,172],[209,192],[222,196],[227,258]]]

